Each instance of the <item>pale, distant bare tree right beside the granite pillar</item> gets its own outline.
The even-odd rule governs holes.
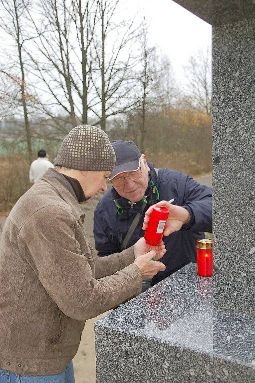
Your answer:
[[[209,47],[204,51],[199,49],[191,55],[188,64],[184,66],[188,93],[186,101],[195,108],[212,113],[212,65]]]

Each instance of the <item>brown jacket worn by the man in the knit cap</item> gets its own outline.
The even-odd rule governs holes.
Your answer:
[[[11,210],[0,242],[0,369],[60,373],[86,319],[141,291],[133,247],[93,259],[83,220],[71,185],[54,169]]]

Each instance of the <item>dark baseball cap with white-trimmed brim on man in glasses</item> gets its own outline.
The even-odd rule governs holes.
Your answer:
[[[125,172],[135,172],[140,168],[141,153],[133,141],[114,140],[112,143],[116,155],[115,167],[109,177],[114,177]]]

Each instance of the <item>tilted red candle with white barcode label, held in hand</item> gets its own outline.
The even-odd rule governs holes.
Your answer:
[[[169,215],[169,210],[164,206],[153,206],[144,238],[148,245],[158,246],[163,238],[163,231]]]

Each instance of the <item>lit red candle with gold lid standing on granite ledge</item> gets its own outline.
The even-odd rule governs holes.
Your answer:
[[[213,275],[213,241],[198,239],[197,241],[198,275],[211,277]]]

